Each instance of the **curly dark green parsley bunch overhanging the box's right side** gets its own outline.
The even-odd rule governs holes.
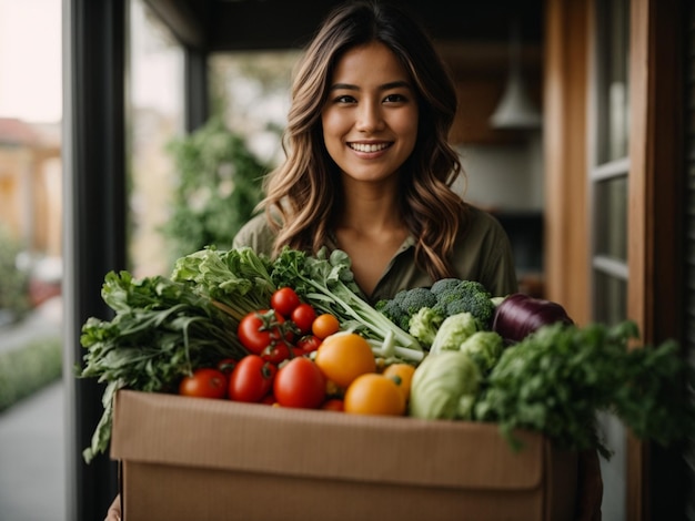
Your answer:
[[[596,413],[617,416],[639,439],[666,446],[695,428],[694,369],[678,345],[629,348],[633,321],[586,327],[554,324],[505,349],[476,405],[476,418],[513,430],[541,431],[562,447],[610,449],[596,430]]]

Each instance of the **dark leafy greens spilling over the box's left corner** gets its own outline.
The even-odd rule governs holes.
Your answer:
[[[103,415],[83,451],[87,462],[108,447],[118,389],[168,391],[194,368],[245,353],[234,320],[185,284],[110,272],[101,295],[115,316],[84,323],[80,343],[87,353],[75,367],[79,378],[108,382]]]

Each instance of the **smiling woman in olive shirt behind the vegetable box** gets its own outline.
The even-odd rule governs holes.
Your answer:
[[[395,7],[348,3],[309,45],[292,88],[286,161],[234,246],[345,251],[371,302],[444,277],[516,290],[508,238],[452,190],[456,93],[427,35]]]

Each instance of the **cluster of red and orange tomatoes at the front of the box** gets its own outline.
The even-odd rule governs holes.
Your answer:
[[[290,287],[273,293],[268,309],[239,323],[249,351],[184,377],[184,396],[356,413],[405,413],[414,367],[377,370],[369,343],[341,331],[331,314],[316,314]]]

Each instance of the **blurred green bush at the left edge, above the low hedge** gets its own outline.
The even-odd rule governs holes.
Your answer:
[[[4,226],[0,225],[0,309],[21,318],[31,308],[29,274],[18,269],[16,260],[21,246]]]

